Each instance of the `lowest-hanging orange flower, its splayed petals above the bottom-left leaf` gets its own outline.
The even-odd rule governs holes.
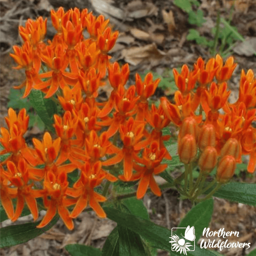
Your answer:
[[[75,204],[76,200],[67,198],[67,188],[68,180],[65,172],[47,172],[44,179],[44,190],[42,191],[44,206],[47,208],[47,211],[43,220],[36,226],[37,228],[43,228],[47,225],[52,220],[57,210],[66,227],[69,230],[74,228],[74,223],[69,217],[67,207]]]

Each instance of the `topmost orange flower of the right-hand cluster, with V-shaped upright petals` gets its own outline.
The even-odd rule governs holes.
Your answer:
[[[215,61],[218,63],[218,69],[216,71],[215,77],[220,84],[230,79],[237,64],[234,64],[233,57],[229,57],[228,60],[226,60],[225,65],[223,66],[223,60],[219,54],[216,55]]]

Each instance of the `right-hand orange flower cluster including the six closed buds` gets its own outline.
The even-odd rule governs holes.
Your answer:
[[[198,161],[204,174],[217,166],[219,182],[233,176],[242,155],[250,155],[248,172],[254,172],[256,165],[256,129],[252,126],[256,120],[256,79],[251,69],[247,74],[242,70],[239,98],[230,104],[227,81],[235,68],[233,57],[224,65],[219,54],[206,64],[199,58],[192,71],[187,65],[183,65],[180,74],[173,70],[179,88],[175,92],[175,104],[161,98],[165,114],[180,127],[180,161],[184,164]],[[220,109],[225,114],[220,114]],[[196,158],[198,148],[199,159]]]

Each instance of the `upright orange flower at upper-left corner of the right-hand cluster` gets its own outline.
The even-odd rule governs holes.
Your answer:
[[[172,71],[175,84],[183,95],[186,95],[195,87],[199,73],[199,69],[197,67],[194,67],[194,70],[189,72],[188,66],[183,65],[180,74],[175,68],[173,68]]]

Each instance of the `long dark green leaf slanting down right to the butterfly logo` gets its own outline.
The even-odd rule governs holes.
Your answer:
[[[109,219],[116,221],[118,225],[131,229],[133,232],[139,234],[143,239],[150,241],[151,246],[171,252],[172,256],[180,256],[180,252],[172,251],[171,243],[169,243],[171,240],[169,237],[172,233],[169,229],[158,226],[150,220],[144,220],[140,217],[121,212],[117,209],[104,207],[104,211],[107,213],[107,217]],[[211,251],[204,248],[201,249],[197,245],[195,247],[195,251],[188,251],[187,255],[215,256]]]

